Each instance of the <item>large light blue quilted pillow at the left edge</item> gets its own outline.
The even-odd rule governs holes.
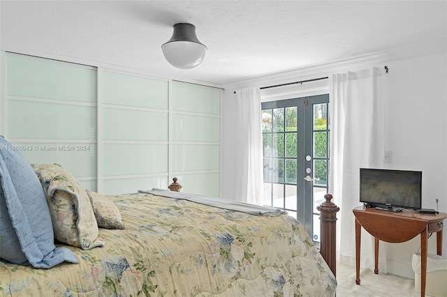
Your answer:
[[[78,263],[68,248],[54,245],[47,199],[29,162],[0,136],[0,258],[13,264],[51,268]]]

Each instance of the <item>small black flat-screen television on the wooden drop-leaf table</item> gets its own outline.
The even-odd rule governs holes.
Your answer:
[[[360,202],[372,207],[420,209],[422,172],[360,168]]]

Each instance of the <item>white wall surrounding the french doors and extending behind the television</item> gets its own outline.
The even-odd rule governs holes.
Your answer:
[[[222,189],[223,198],[234,194],[235,164],[235,89],[247,86],[270,86],[285,82],[328,76],[347,70],[372,66],[388,66],[386,103],[386,150],[392,151],[393,169],[423,171],[423,207],[447,212],[447,50],[432,50],[427,54],[393,53],[362,61],[334,63],[293,73],[260,77],[225,87],[223,93]],[[336,197],[335,197],[336,199]],[[447,222],[446,222],[447,224]],[[429,252],[435,252],[434,237]],[[413,277],[411,257],[417,252],[420,238],[407,243],[387,244],[388,273]],[[447,255],[447,235],[444,231],[443,254]]]

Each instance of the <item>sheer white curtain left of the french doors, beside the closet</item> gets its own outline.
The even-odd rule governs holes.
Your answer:
[[[235,200],[261,205],[263,142],[261,94],[258,88],[236,91]]]

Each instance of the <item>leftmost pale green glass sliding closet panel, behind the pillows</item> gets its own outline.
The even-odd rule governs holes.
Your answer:
[[[2,52],[6,139],[96,190],[96,68]]]

